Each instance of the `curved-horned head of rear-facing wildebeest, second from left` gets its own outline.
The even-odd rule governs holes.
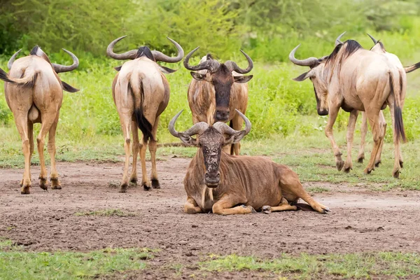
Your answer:
[[[116,38],[114,41],[112,41],[108,45],[108,48],[106,48],[106,54],[109,55],[109,57],[112,57],[113,59],[118,59],[118,60],[137,59],[139,57],[147,57],[148,59],[151,59],[154,62],[160,61],[160,62],[168,62],[168,63],[179,62],[183,58],[183,55],[184,55],[183,48],[181,47],[181,45],[179,45],[179,43],[176,43],[176,41],[172,40],[172,38],[169,38],[169,37],[167,37],[168,40],[171,41],[175,45],[176,50],[178,50],[178,55],[176,55],[176,57],[169,57],[158,50],[151,50],[147,46],[141,46],[137,50],[129,50],[128,52],[123,52],[120,54],[113,52],[113,48],[116,45],[116,43],[118,43],[118,41],[122,40],[125,37],[127,36]],[[158,66],[160,67],[160,70],[163,73],[174,73],[176,71],[174,69],[169,69],[164,66],[160,66],[160,65]],[[121,66],[116,67],[117,71],[120,71],[120,69],[121,69]]]

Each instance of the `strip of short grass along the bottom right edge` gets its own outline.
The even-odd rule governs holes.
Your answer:
[[[296,279],[370,278],[375,275],[405,277],[420,275],[418,253],[352,253],[307,255],[263,260],[251,256],[211,255],[200,262],[200,269],[209,272],[267,271]]]

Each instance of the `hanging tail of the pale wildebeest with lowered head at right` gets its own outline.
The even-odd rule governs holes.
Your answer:
[[[398,74],[397,74],[398,73]],[[394,95],[394,129],[397,138],[401,137],[402,141],[406,142],[404,124],[402,123],[401,110],[401,92],[402,92],[402,77],[399,71],[391,72],[389,76],[389,83],[391,86],[391,94]]]

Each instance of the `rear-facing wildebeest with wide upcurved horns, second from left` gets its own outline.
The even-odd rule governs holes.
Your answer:
[[[122,54],[113,52],[113,47],[125,36],[112,41],[106,53],[114,59],[132,59],[123,66],[117,67],[118,73],[112,84],[112,95],[120,116],[124,134],[125,165],[120,193],[125,193],[128,186],[128,167],[130,165],[130,132],[133,134],[133,166],[130,181],[137,183],[137,154],[140,151],[141,185],[145,190],[160,188],[156,172],[156,132],[160,114],[165,111],[169,102],[169,83],[163,73],[173,73],[174,70],[160,66],[158,61],[175,63],[183,58],[183,49],[179,43],[168,38],[176,49],[176,57],[168,57],[157,50],[143,46],[138,50],[130,50]],[[139,132],[143,133],[143,144],[139,145]],[[149,147],[152,160],[151,181],[146,172],[146,148]]]

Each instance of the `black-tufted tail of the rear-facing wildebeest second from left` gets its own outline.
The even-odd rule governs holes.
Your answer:
[[[133,77],[129,83],[130,90],[134,97],[134,117],[141,133],[143,133],[144,142],[147,143],[149,139],[155,140],[152,134],[152,125],[144,116],[143,102],[144,102],[144,85],[140,77]]]

